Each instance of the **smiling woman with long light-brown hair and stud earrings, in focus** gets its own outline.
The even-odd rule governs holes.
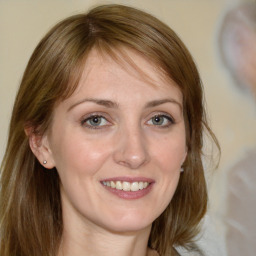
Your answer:
[[[1,167],[9,255],[176,255],[207,208],[196,66],[142,11],[107,5],[57,24],[15,101]]]

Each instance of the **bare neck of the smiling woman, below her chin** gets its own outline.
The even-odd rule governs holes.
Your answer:
[[[136,232],[111,232],[93,224],[86,229],[64,227],[58,256],[148,255],[151,226]]]

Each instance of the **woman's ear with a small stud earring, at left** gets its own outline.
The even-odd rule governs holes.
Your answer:
[[[55,167],[52,151],[49,145],[47,134],[42,135],[35,132],[33,127],[25,128],[29,140],[29,146],[41,165],[47,169]]]

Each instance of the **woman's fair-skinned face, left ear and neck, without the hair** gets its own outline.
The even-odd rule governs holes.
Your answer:
[[[30,140],[39,161],[60,176],[59,256],[150,255],[152,222],[176,190],[187,154],[182,94],[146,59],[127,53],[146,76],[92,50],[40,145]]]

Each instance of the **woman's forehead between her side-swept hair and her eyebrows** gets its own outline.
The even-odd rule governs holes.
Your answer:
[[[88,83],[96,85],[101,82],[104,86],[106,80],[114,79],[116,81],[125,78],[136,80],[141,85],[152,86],[159,90],[173,90],[173,87],[176,87],[176,90],[180,92],[179,86],[159,65],[142,54],[123,47],[111,53],[92,49],[83,66],[83,73],[76,93],[79,93]]]

